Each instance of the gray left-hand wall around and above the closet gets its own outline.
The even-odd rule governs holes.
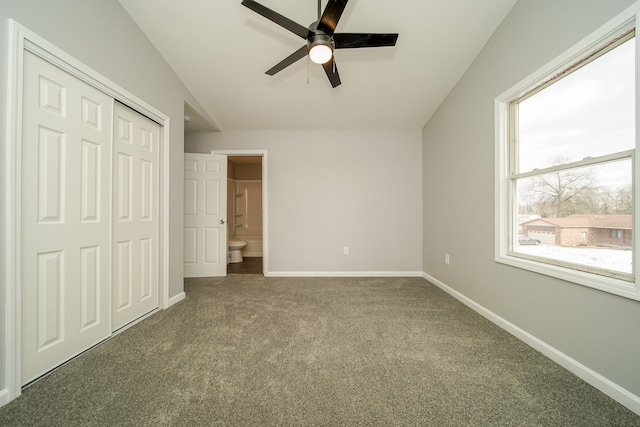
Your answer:
[[[198,106],[162,57],[116,0],[0,0],[0,131],[5,134],[8,62],[8,19],[44,37],[140,99],[171,117],[170,296],[183,291],[182,204],[184,102]],[[200,108],[198,106],[198,108]],[[4,140],[4,139],[3,139]],[[0,150],[0,174],[5,159]],[[0,241],[5,241],[5,188],[0,187]],[[4,325],[7,284],[4,244],[0,247],[0,307]],[[4,327],[0,330],[0,357],[5,354]],[[5,361],[0,361],[0,391],[6,386]]]

